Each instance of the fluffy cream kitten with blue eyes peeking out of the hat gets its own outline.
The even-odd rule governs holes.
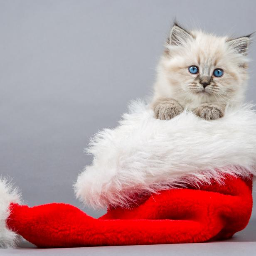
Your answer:
[[[157,69],[151,105],[155,117],[171,119],[186,107],[212,120],[224,116],[226,105],[241,103],[249,38],[188,32],[175,23]]]

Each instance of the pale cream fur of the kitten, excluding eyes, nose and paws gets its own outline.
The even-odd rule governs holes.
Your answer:
[[[247,87],[247,65],[249,60],[237,50],[239,44],[249,44],[248,37],[228,41],[228,37],[217,37],[202,31],[192,31],[194,36],[185,37],[184,30],[174,26],[180,44],[166,45],[157,68],[153,101],[158,98],[174,98],[182,106],[197,108],[202,103],[239,105],[244,100]],[[185,37],[185,38],[183,38]],[[189,66],[198,66],[199,74],[190,74]],[[212,76],[214,69],[224,70],[222,77]],[[213,81],[202,92],[197,76],[212,76]],[[195,82],[196,85],[192,85]],[[213,87],[215,85],[215,87]]]

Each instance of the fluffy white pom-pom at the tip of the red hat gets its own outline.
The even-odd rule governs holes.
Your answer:
[[[10,203],[20,204],[20,193],[7,179],[0,179],[0,248],[12,248],[20,236],[6,226]]]

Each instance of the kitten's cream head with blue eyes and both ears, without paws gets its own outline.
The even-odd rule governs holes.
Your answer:
[[[228,40],[175,25],[160,66],[176,98],[224,103],[243,94],[249,37]],[[242,96],[242,95],[241,95]]]

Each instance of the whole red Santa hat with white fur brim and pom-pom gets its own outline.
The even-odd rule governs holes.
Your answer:
[[[19,236],[39,247],[192,243],[226,239],[252,209],[256,115],[249,107],[206,121],[184,112],[156,120],[143,103],[95,135],[75,184],[99,219],[69,204],[22,205],[0,182],[0,246]]]

